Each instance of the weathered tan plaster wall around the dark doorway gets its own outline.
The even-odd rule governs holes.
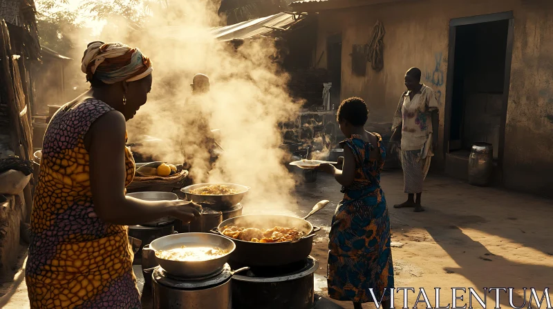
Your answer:
[[[363,97],[369,121],[391,121],[404,91],[404,72],[416,66],[442,107],[443,149],[449,21],[461,17],[513,11],[515,19],[509,106],[505,129],[503,181],[508,188],[551,195],[553,188],[553,1],[419,0],[319,12],[317,60],[326,37],[341,33],[341,99]],[[377,20],[384,23],[384,69],[352,74],[353,44],[368,43]],[[326,68],[326,55],[317,66]],[[384,132],[383,132],[384,133]],[[436,151],[435,164],[444,165]]]

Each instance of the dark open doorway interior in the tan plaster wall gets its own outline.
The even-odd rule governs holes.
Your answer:
[[[509,18],[510,17],[510,18]],[[446,151],[468,157],[476,142],[503,155],[512,55],[512,13],[451,21]],[[448,111],[449,109],[449,111]]]

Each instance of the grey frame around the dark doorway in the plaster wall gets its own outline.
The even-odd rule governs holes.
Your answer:
[[[499,128],[498,168],[503,182],[503,157],[505,149],[505,123],[507,122],[507,107],[509,106],[509,88],[511,83],[511,63],[514,43],[514,14],[513,11],[495,14],[461,17],[449,21],[449,51],[447,58],[446,96],[444,105],[444,158],[449,154],[449,139],[451,132],[451,104],[453,101],[453,80],[455,71],[455,47],[458,26],[467,26],[475,23],[488,23],[491,21],[509,21],[507,28],[507,48],[505,51],[505,78],[503,80],[503,98],[501,108],[501,123]]]

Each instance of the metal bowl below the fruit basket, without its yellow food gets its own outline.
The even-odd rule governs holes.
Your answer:
[[[190,193],[191,190],[213,185],[227,186],[238,191],[238,193],[234,195],[195,195]],[[236,183],[198,183],[180,189],[181,192],[185,193],[188,201],[206,203],[209,205],[209,208],[216,210],[224,210],[240,203],[249,190],[250,187],[237,185]]]

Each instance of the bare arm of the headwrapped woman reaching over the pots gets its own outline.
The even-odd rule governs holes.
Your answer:
[[[142,201],[124,195],[125,131],[123,114],[111,111],[97,119],[86,134],[96,215],[106,222],[126,226],[166,216],[189,222],[198,216],[191,207],[193,204],[187,201]]]

